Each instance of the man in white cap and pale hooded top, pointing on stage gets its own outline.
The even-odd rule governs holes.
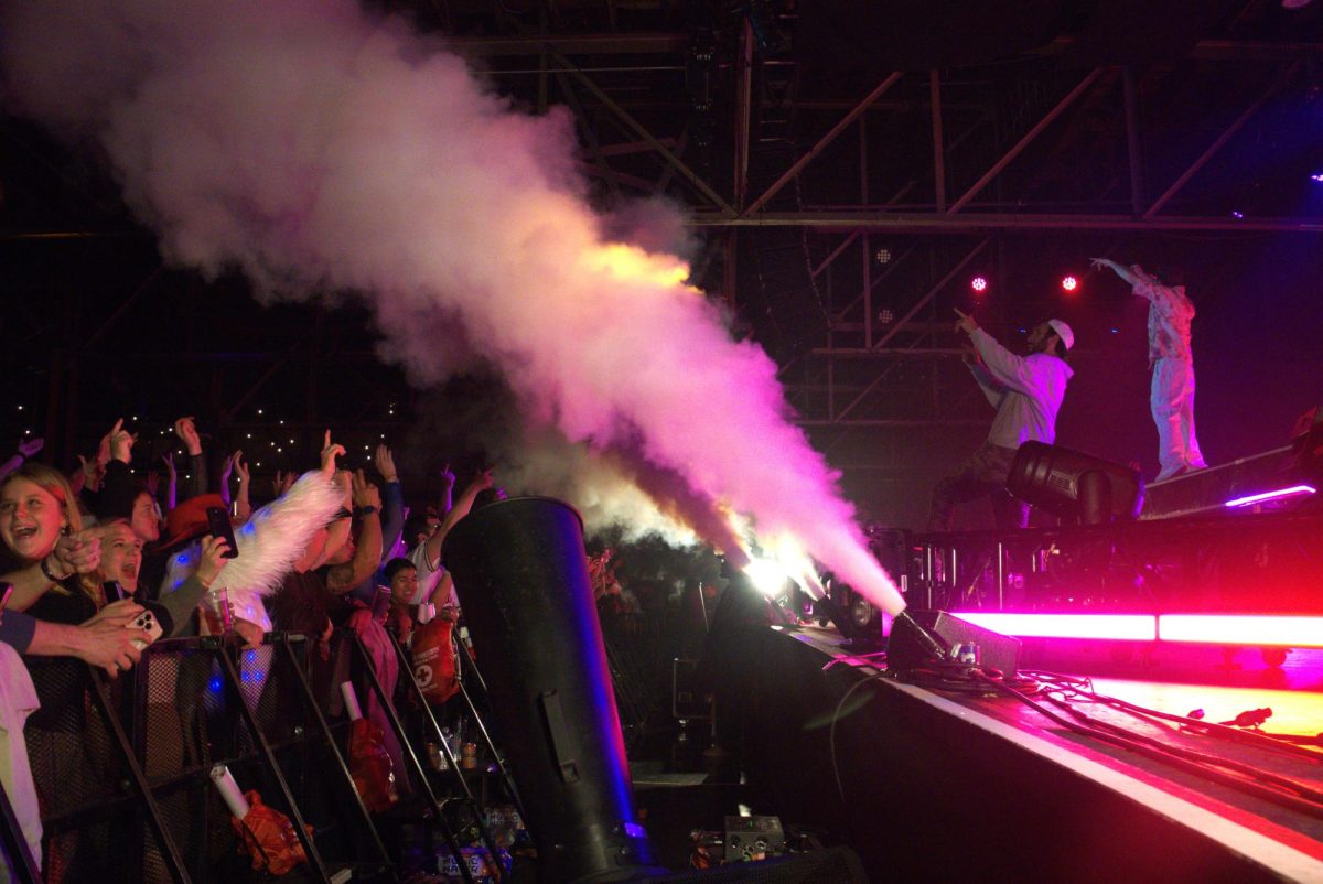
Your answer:
[[[966,363],[996,417],[987,442],[933,488],[927,529],[950,531],[955,504],[986,495],[994,495],[999,528],[1024,528],[1029,524],[1028,504],[1011,498],[1005,479],[1021,443],[1035,439],[1052,445],[1057,438],[1057,412],[1074,375],[1064,359],[1074,345],[1074,332],[1060,319],[1049,319],[1029,332],[1029,355],[1016,356],[972,316],[955,312],[960,316],[957,330],[974,344]]]

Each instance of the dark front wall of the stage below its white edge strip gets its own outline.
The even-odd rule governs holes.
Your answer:
[[[827,826],[876,881],[1277,881],[1155,810],[863,679],[786,634],[755,641],[745,733],[758,813]]]

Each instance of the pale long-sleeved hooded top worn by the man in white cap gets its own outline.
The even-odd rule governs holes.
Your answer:
[[[1074,369],[1048,353],[1016,356],[982,328],[970,335],[983,359],[971,365],[974,380],[996,409],[988,442],[1019,449],[1033,439],[1052,445],[1057,438],[1057,412]]]

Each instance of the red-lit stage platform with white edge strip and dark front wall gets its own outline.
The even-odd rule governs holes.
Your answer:
[[[763,785],[790,779],[789,787],[773,783],[770,794],[792,809],[796,789],[800,799],[816,790],[810,803],[828,817],[835,811],[875,877],[901,869],[893,880],[950,880],[964,869],[983,880],[1323,880],[1316,750],[1228,742],[1110,705],[1072,703],[1095,723],[1217,760],[1217,782],[1196,765],[1076,733],[1008,696],[897,682],[876,659],[840,644],[833,631],[811,627],[773,627],[765,637],[753,720],[779,716],[785,738],[782,749],[755,748],[753,769]],[[1148,709],[1203,709],[1205,721],[1218,723],[1266,707],[1273,733],[1323,730],[1318,651],[1270,667],[1254,650],[1027,650],[1027,668],[1090,676],[1095,693]],[[775,695],[778,684],[816,696],[796,712]],[[796,787],[786,752],[802,760],[822,750],[828,762],[815,768],[824,782]],[[1278,799],[1234,787],[1265,777],[1298,789]],[[929,852],[938,843],[942,852]]]

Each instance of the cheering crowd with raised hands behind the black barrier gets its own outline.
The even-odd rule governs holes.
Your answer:
[[[36,461],[40,439],[0,464],[0,581],[12,586],[0,617],[0,777],[38,862],[58,772],[29,768],[24,737],[69,729],[69,708],[81,712],[81,695],[67,696],[69,667],[114,678],[153,638],[233,630],[257,647],[279,630],[307,637],[316,680],[329,678],[333,629],[348,626],[389,689],[398,671],[382,630],[407,637],[418,622],[456,617],[442,541],[480,495],[499,494],[486,470],[454,496],[447,468],[441,500],[410,515],[392,451],[374,453],[378,484],[337,470],[344,449],[327,431],[319,467],[278,475],[274,498],[254,509],[242,451],[210,487],[193,418],[176,421],[175,434],[189,461],[183,484],[171,461],[160,479],[135,476],[123,421],[67,475]],[[212,532],[217,509],[229,513],[237,551]],[[144,611],[159,630],[143,627]]]

